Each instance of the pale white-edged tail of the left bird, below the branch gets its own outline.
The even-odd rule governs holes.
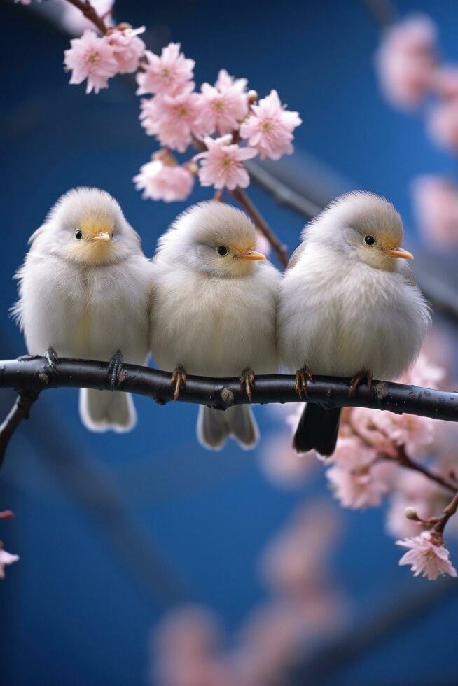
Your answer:
[[[137,423],[137,412],[130,393],[111,393],[81,388],[80,416],[90,431],[113,430],[125,433]]]

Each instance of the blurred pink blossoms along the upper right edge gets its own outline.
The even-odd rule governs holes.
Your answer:
[[[375,55],[385,97],[404,110],[426,105],[426,130],[436,144],[458,151],[458,65],[442,62],[437,28],[426,15],[412,15],[389,28]],[[412,184],[415,213],[435,248],[458,244],[458,186],[441,176]]]

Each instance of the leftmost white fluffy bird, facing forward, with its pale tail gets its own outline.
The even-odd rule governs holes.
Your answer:
[[[137,232],[109,193],[75,188],[29,244],[13,307],[29,353],[111,360],[114,388],[123,358],[132,364],[148,358],[153,268]],[[82,388],[80,414],[94,431],[128,431],[136,421],[127,393]]]

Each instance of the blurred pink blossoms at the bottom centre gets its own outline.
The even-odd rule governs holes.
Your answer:
[[[300,506],[268,543],[258,573],[270,595],[242,622],[230,647],[213,612],[188,605],[162,619],[153,639],[158,686],[276,686],[298,654],[347,622],[347,600],[328,576],[340,532],[329,503]]]

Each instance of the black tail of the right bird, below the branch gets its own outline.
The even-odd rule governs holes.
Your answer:
[[[337,443],[341,412],[340,407],[325,409],[312,402],[305,405],[293,437],[293,448],[298,453],[316,450],[320,455],[331,456]]]

